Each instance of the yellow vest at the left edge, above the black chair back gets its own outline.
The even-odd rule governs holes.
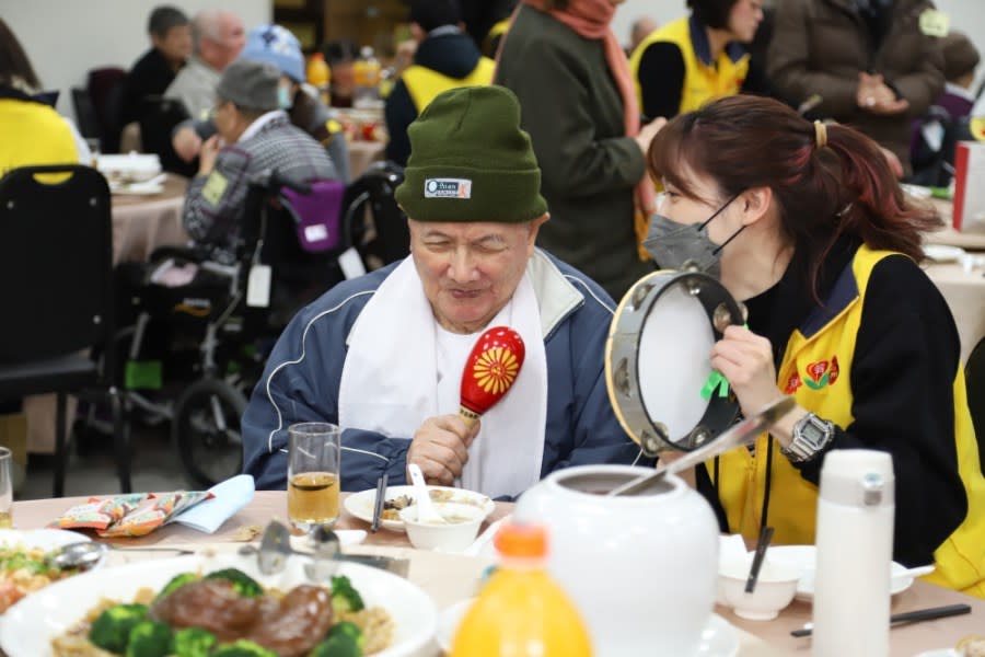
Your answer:
[[[19,166],[79,162],[72,130],[40,103],[0,99],[0,176]]]

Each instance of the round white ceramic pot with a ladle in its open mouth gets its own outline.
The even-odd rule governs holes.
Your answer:
[[[676,476],[633,497],[607,492],[628,465],[555,472],[518,500],[514,518],[551,530],[548,568],[589,626],[595,657],[695,655],[715,604],[718,523]]]

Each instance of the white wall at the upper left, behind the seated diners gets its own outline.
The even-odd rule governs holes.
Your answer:
[[[202,9],[235,11],[248,30],[270,21],[270,0],[0,0],[0,16],[27,51],[45,89],[59,89],[58,111],[74,116],[72,87],[84,87],[90,69],[128,69],[149,47],[147,20],[158,4],[189,16]]]

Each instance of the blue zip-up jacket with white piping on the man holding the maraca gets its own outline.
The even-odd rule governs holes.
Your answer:
[[[244,471],[256,479],[257,488],[287,485],[287,427],[298,422],[338,423],[338,388],[349,332],[395,267],[332,288],[298,313],[277,341],[242,423]],[[605,390],[603,358],[612,299],[583,274],[540,250],[528,263],[528,272],[541,309],[547,358],[541,476],[587,463],[651,463],[639,458]],[[399,337],[398,327],[394,337]],[[406,483],[410,438],[355,428],[343,431],[341,488],[374,487],[384,472],[391,485]]]

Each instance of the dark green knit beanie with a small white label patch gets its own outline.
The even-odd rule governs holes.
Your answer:
[[[410,159],[396,200],[417,221],[530,221],[547,211],[541,170],[505,87],[439,94],[407,129]]]

